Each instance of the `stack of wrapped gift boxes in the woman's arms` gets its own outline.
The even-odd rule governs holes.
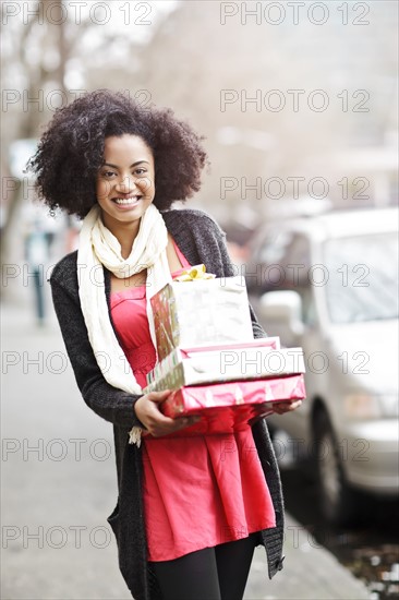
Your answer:
[[[239,431],[276,403],[305,397],[302,349],[254,339],[244,279],[204,271],[192,267],[152,298],[158,363],[145,393],[171,391],[160,405],[168,417],[201,417],[170,436]]]

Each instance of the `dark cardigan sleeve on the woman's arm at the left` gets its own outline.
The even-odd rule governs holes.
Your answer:
[[[53,274],[50,285],[56,314],[83,399],[97,415],[114,425],[144,429],[134,412],[134,405],[141,396],[118,389],[104,377],[88,340],[78,300]]]

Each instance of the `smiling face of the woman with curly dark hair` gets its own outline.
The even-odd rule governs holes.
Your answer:
[[[155,196],[154,176],[153,152],[142,137],[106,137],[96,194],[102,221],[114,235],[120,228],[137,233],[140,219]]]

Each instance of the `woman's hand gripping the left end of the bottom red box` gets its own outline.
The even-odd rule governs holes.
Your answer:
[[[192,425],[200,419],[200,417],[182,417],[181,419],[165,417],[159,410],[159,405],[167,399],[170,393],[170,389],[150,392],[138,398],[134,405],[137,419],[154,437],[173,433],[173,431]]]

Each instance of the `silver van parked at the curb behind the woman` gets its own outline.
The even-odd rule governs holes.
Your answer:
[[[397,275],[397,208],[274,221],[251,250],[255,312],[306,364],[301,408],[269,421],[312,458],[335,523],[356,515],[359,491],[398,494]]]

